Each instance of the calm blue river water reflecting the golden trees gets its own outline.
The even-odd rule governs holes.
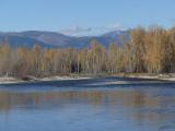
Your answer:
[[[0,131],[175,131],[175,84],[118,80],[0,85]]]

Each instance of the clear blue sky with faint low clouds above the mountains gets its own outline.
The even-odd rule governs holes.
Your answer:
[[[175,25],[175,0],[0,0],[0,31],[94,35],[152,24]]]

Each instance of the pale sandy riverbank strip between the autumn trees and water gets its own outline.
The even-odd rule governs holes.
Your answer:
[[[135,74],[135,73],[120,73],[120,74],[102,74],[102,75],[56,75],[47,78],[12,78],[12,76],[0,76],[0,84],[18,84],[18,83],[32,83],[32,82],[49,82],[49,81],[67,81],[67,80],[89,80],[94,78],[130,78],[130,79],[141,79],[141,80],[155,80],[155,81],[166,81],[175,82],[175,74]]]

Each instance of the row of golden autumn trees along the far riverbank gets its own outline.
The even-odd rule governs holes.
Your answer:
[[[0,75],[46,76],[67,73],[173,73],[175,72],[175,27],[137,27],[122,46],[105,49],[92,40],[84,49],[45,49],[34,46],[0,46]]]

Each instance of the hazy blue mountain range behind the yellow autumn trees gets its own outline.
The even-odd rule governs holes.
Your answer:
[[[106,33],[101,36],[71,37],[55,32],[26,31],[20,33],[0,33],[0,44],[8,41],[12,47],[33,47],[39,45],[46,48],[84,48],[89,47],[91,40],[96,39],[98,43],[108,47],[110,43],[122,44],[121,37],[129,39],[129,31],[116,31]]]

